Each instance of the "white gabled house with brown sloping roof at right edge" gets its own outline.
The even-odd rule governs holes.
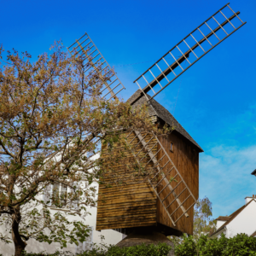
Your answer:
[[[254,171],[255,172],[255,171]],[[256,236],[256,195],[245,198],[245,205],[230,214],[230,216],[219,216],[217,230],[211,237],[220,237],[224,234],[227,238],[245,233],[247,236]]]

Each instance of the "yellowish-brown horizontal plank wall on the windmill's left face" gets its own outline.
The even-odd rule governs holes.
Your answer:
[[[143,136],[145,134],[142,134]],[[128,143],[135,137],[135,134],[128,138]],[[148,143],[150,135],[144,138]],[[148,147],[151,148],[156,143],[156,140],[150,141]],[[138,144],[138,145],[137,145]],[[135,147],[137,154],[142,148],[138,138],[135,138],[131,147]],[[125,152],[125,147],[119,148]],[[155,146],[152,152],[155,154],[157,147]],[[139,157],[142,158],[146,151],[142,150]],[[129,155],[129,153],[127,153]],[[131,155],[132,156],[132,155]],[[149,161],[147,170],[153,168],[153,163],[147,155],[143,163]],[[157,211],[157,197],[150,184],[145,181],[143,177],[134,178],[133,173],[124,172],[122,163],[113,166],[112,174],[123,175],[125,177],[125,184],[114,184],[112,187],[106,187],[104,184],[99,185],[96,230],[132,228],[138,226],[156,225],[156,211]],[[111,181],[111,176],[106,176],[105,180]]]

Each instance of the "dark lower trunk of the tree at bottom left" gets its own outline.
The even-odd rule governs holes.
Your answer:
[[[20,210],[20,209],[19,209]],[[18,210],[18,211],[19,211]],[[19,232],[19,224],[20,224],[20,211],[17,214],[13,214],[13,224],[12,224],[12,237],[15,243],[15,256],[20,256],[22,251],[26,247],[26,242],[22,240]]]

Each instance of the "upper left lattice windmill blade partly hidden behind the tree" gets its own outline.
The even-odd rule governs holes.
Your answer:
[[[103,79],[104,75],[108,74],[109,79],[104,82],[101,96],[106,100],[118,99],[117,95],[121,90],[125,89],[125,86],[86,32],[83,37],[76,40],[67,49],[71,55],[83,57],[85,65],[90,63],[90,67],[85,70],[86,78],[91,73],[98,73],[101,79]]]

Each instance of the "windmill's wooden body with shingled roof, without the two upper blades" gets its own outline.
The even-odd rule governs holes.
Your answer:
[[[147,103],[147,98],[140,94],[141,91],[137,90],[128,99],[132,108],[141,108]],[[159,128],[164,125],[174,127],[172,133],[158,137],[142,134],[143,144],[141,138],[136,136],[138,133],[132,132],[127,137],[127,143],[134,148],[134,155],[139,155],[139,159],[146,163],[148,170],[157,166],[158,161],[162,175],[160,182],[154,181],[156,184],[153,187],[148,181],[143,181],[142,177],[134,181],[128,179],[127,174],[126,183],[121,189],[117,185],[106,188],[100,184],[96,230],[120,229],[128,236],[135,230],[145,229],[157,230],[166,236],[180,236],[183,233],[192,235],[193,203],[198,199],[199,192],[199,154],[203,150],[177,119],[154,99],[148,104],[148,114]],[[148,148],[143,148],[143,145]],[[119,151],[125,152],[125,146],[119,145]],[[152,152],[153,157],[148,152]],[[174,166],[180,174],[177,175]],[[113,166],[113,169],[119,175],[124,175],[125,163],[123,166]],[[173,182],[172,177],[176,179]]]

